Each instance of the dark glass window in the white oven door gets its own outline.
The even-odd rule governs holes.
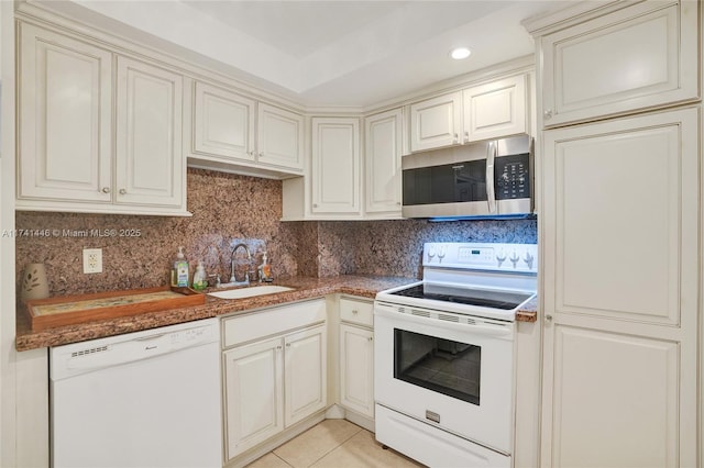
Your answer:
[[[480,404],[482,348],[394,328],[394,378]]]

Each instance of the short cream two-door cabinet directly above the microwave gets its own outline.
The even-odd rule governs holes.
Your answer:
[[[527,76],[497,79],[410,104],[410,151],[527,132]]]

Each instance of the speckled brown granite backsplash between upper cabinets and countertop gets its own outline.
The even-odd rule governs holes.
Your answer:
[[[191,275],[200,259],[208,274],[219,272],[224,282],[232,247],[240,242],[249,246],[255,265],[266,249],[275,277],[417,278],[425,242],[537,242],[535,220],[280,222],[280,200],[278,180],[189,168],[190,218],[19,211],[18,230],[50,230],[52,235],[16,238],[18,281],[24,265],[44,263],[51,296],[165,286],[183,245]],[[134,235],[81,235],[90,230]],[[82,274],[82,249],[90,247],[102,248],[101,274]],[[238,279],[244,264],[240,250]]]

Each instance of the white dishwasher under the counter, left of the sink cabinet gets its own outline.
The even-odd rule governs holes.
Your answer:
[[[219,322],[51,348],[54,468],[220,468]]]

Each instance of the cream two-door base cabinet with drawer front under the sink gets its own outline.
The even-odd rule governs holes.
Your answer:
[[[324,300],[223,319],[226,459],[327,406]]]

